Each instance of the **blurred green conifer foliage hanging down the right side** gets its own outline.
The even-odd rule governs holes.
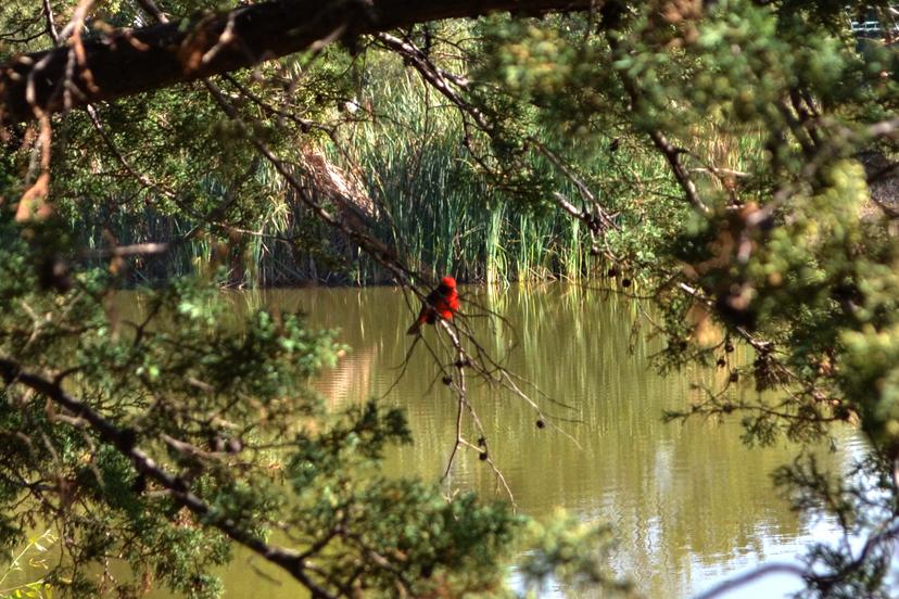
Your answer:
[[[664,364],[724,367],[724,348],[743,339],[756,353],[745,370],[759,390],[754,400],[711,391],[674,417],[742,408],[750,443],[782,432],[815,439],[832,422],[858,419],[878,459],[891,463],[899,455],[896,197],[872,194],[876,177],[890,173],[883,165],[895,168],[899,53],[852,37],[850,15],[869,7],[843,4],[607,2],[591,16],[495,17],[485,24],[479,73],[530,107],[516,118],[539,107],[534,127],[555,124],[586,140],[615,131],[620,152],[655,153],[671,167],[664,187],[643,192],[659,208],[649,222],[636,197],[611,205],[656,259],[640,259],[621,243],[625,235],[608,241],[655,285]],[[582,171],[597,164],[567,155]],[[726,335],[721,342],[708,343],[710,319],[723,330],[718,339]],[[734,369],[730,381],[738,375]],[[778,394],[761,393],[772,387]],[[778,481],[833,495],[800,470]],[[895,482],[881,490],[895,504]],[[889,527],[884,513],[895,510],[865,520],[865,497],[848,496],[846,509],[868,531]],[[884,582],[889,551],[882,546],[870,560],[857,560],[848,545],[828,556],[810,562],[832,574],[812,591],[871,592]]]

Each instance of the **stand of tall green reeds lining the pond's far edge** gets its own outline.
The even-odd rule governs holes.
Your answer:
[[[395,56],[367,60],[354,102],[362,106],[354,122],[344,123],[337,142],[324,139],[315,151],[330,164],[355,173],[376,209],[373,233],[395,247],[410,264],[434,275],[452,272],[464,281],[499,283],[591,276],[592,241],[583,227],[561,213],[552,196],[522,202],[493,184],[473,164],[461,143],[465,130],[455,106],[423,86],[418,75]],[[760,145],[747,137],[714,136],[700,154],[718,167],[742,169],[745,156]],[[632,233],[638,221],[670,211],[659,197],[676,192],[663,161],[633,143],[617,154],[608,140],[580,140],[578,146],[561,133],[545,132],[548,146],[587,160],[591,173],[578,174],[597,193],[606,209],[628,205],[633,222],[622,221],[620,243],[645,253],[646,235]],[[305,141],[305,140],[304,140]],[[591,146],[591,144],[593,146]],[[748,146],[747,146],[748,144]],[[574,184],[543,156],[527,165],[546,186],[579,205]],[[252,173],[253,197],[241,202],[249,216],[242,232],[213,228],[174,245],[163,257],[138,260],[138,281],[152,281],[227,266],[228,283],[244,286],[287,286],[307,281],[364,284],[387,280],[378,264],[340,234],[329,230],[291,196],[280,177],[265,163]],[[622,183],[626,181],[626,183]],[[225,186],[213,176],[200,181],[202,193],[228,200]],[[116,202],[71,217],[88,246],[125,245],[182,238],[198,222],[182,213],[147,206],[122,209]],[[617,233],[613,233],[613,237]],[[286,240],[291,240],[290,242]]]

